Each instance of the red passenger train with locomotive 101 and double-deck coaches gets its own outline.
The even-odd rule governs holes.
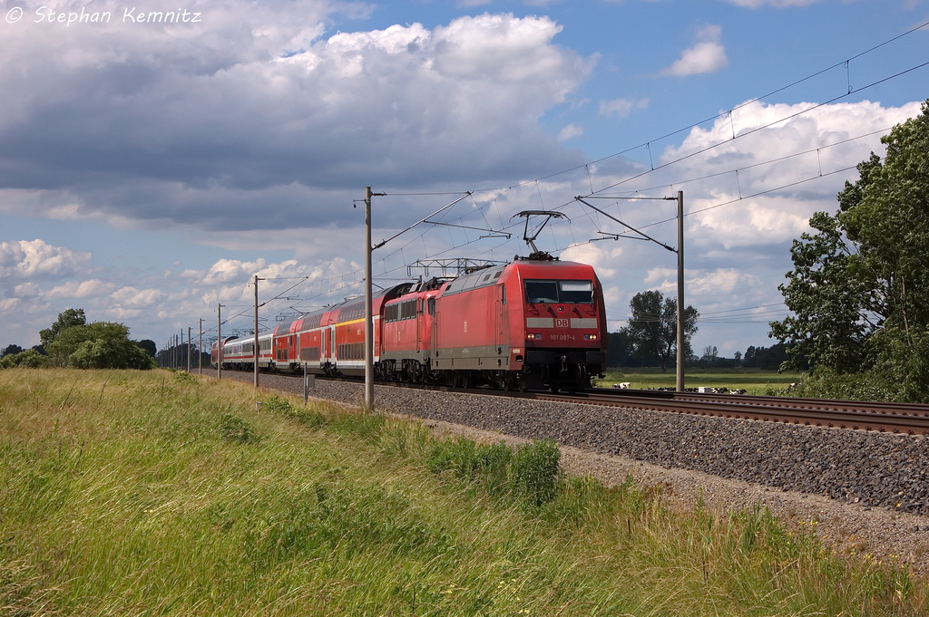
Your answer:
[[[372,303],[375,379],[578,392],[607,366],[603,288],[593,266],[547,253],[383,289]],[[364,299],[259,333],[262,370],[363,377]],[[255,338],[224,338],[214,367],[254,370]]]

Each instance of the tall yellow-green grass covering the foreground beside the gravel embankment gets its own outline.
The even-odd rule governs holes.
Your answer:
[[[183,373],[0,371],[0,505],[0,614],[927,614],[761,508]]]

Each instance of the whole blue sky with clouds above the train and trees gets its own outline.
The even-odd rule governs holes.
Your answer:
[[[926,0],[0,13],[2,346],[35,344],[70,307],[159,347],[201,318],[215,328],[216,302],[224,328],[249,328],[255,274],[268,326],[359,294],[352,205],[373,186],[388,194],[375,238],[464,191],[436,220],[514,234],[420,225],[375,251],[376,283],[416,260],[525,254],[511,217],[558,209],[569,222],[537,244],[595,265],[610,329],[636,292],[674,294],[674,255],[590,242],[622,229],[573,198],[611,198],[596,205],[674,244],[673,202],[621,198],[683,190],[694,348],[744,353],[786,315],[792,239],[929,97],[929,27],[909,32],[929,21]]]

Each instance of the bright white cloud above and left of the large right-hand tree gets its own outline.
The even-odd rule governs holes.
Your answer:
[[[662,177],[713,176],[680,186],[687,212],[696,212],[687,217],[688,243],[710,258],[733,250],[781,251],[808,229],[813,212],[834,212],[836,193],[846,179],[857,177],[854,170],[831,173],[865,161],[871,151],[882,153],[881,135],[920,112],[915,102],[900,108],[870,101],[814,108],[749,103],[708,128],[691,129],[679,147],[664,150],[661,163],[694,156],[674,163]],[[796,185],[802,180],[808,182]],[[766,193],[772,189],[780,190]]]

